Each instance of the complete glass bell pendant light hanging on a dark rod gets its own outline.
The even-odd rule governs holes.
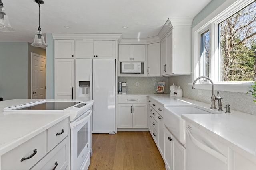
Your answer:
[[[43,0],[35,0],[35,2],[39,6],[39,27],[38,27],[37,33],[35,35],[34,42],[31,45],[34,47],[48,47],[48,45],[46,45],[46,43],[44,41],[44,35],[42,35],[42,31],[40,28],[40,5],[44,4],[44,1]]]

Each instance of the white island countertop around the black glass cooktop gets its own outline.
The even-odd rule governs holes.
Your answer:
[[[14,99],[0,102],[0,155],[14,149],[20,144],[28,141],[32,137],[70,116],[70,113],[64,112],[3,112],[5,107],[38,100],[41,99]]]

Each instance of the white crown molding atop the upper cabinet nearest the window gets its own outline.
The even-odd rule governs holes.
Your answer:
[[[168,18],[168,20],[158,33],[159,39],[162,41],[173,27],[192,28],[193,19],[194,18]]]

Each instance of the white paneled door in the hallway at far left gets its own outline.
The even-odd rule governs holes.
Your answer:
[[[32,70],[31,70],[31,98],[32,99],[45,99],[45,57],[31,53]]]

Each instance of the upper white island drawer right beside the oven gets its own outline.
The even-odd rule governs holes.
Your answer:
[[[58,145],[58,143],[60,143],[60,141],[62,141],[66,136],[68,136],[68,130],[68,118],[47,129],[47,153]]]

